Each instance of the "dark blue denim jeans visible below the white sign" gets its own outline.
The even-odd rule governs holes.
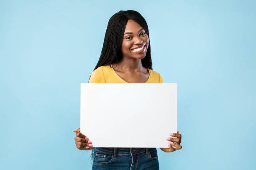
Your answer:
[[[159,170],[156,148],[94,148],[92,170]]]

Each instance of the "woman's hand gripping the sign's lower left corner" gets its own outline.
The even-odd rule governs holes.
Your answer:
[[[80,133],[80,128],[73,130],[76,133],[74,138],[76,141],[77,148],[79,150],[92,150],[92,142],[84,134]]]

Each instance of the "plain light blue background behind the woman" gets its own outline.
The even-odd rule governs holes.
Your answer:
[[[110,17],[130,9],[148,23],[153,70],[178,84],[183,148],[158,149],[160,169],[256,168],[255,1],[1,0],[0,169],[90,170],[72,132],[80,83]]]

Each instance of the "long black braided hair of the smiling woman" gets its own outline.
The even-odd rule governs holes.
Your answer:
[[[146,20],[135,10],[120,10],[115,13],[108,21],[108,27],[105,33],[103,47],[100,54],[100,59],[94,70],[100,66],[110,65],[122,59],[121,45],[123,42],[123,34],[128,20],[133,20],[145,30],[148,35],[148,49],[146,56],[141,59],[143,67],[152,70],[152,60],[150,52],[150,40],[148,32],[148,24]],[[90,76],[91,77],[91,76]],[[90,80],[90,78],[89,78]]]

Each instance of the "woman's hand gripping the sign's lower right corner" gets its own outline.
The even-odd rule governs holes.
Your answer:
[[[160,149],[164,152],[174,152],[175,150],[180,150],[182,148],[182,145],[179,145],[179,144],[181,143],[182,135],[179,134],[179,132],[169,133],[169,135],[177,138],[166,138],[166,140],[170,141],[168,144],[169,148],[160,148]],[[172,146],[175,146],[176,148],[172,148]]]

